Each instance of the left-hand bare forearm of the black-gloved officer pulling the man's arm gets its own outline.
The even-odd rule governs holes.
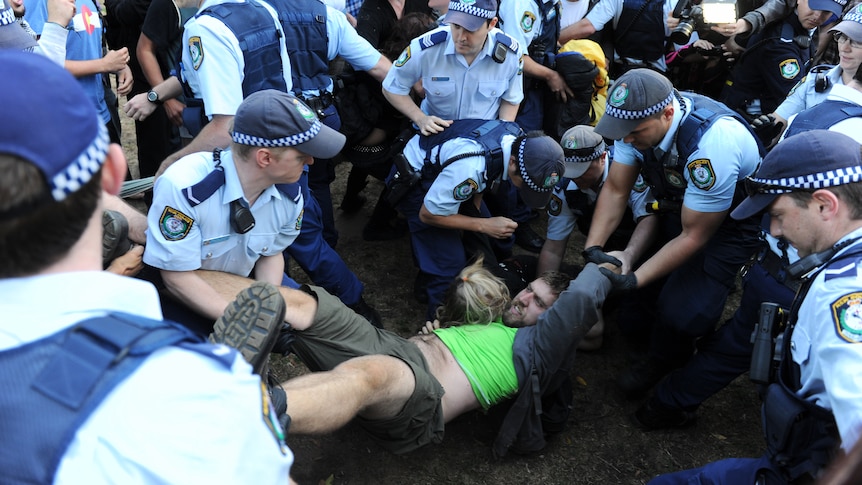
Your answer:
[[[584,247],[604,246],[611,233],[620,225],[639,172],[640,168],[636,165],[611,164],[608,179],[596,201],[593,222],[590,224],[590,233]]]

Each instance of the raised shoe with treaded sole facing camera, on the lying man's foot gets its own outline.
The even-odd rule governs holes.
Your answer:
[[[284,322],[284,298],[275,286],[256,281],[242,290],[213,325],[210,342],[233,347],[260,374]]]

